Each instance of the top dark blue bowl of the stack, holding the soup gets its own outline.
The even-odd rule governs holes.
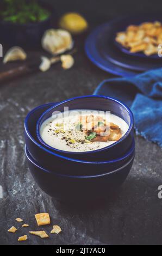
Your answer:
[[[52,117],[54,111],[64,112],[64,107],[68,107],[69,110],[93,109],[97,111],[110,111],[112,114],[116,114],[126,121],[126,123],[129,125],[129,129],[119,141],[102,149],[86,152],[69,152],[52,148],[42,140],[40,136],[40,127],[43,121],[49,117]],[[47,111],[45,111],[38,120],[36,125],[36,135],[38,136],[40,143],[54,153],[61,154],[66,157],[77,158],[83,161],[94,161],[94,159],[97,159],[97,161],[108,161],[117,159],[117,157],[121,157],[123,154],[126,154],[131,147],[134,137],[134,119],[132,112],[126,105],[111,97],[98,95],[74,97],[70,100],[57,103],[57,105],[47,109]]]

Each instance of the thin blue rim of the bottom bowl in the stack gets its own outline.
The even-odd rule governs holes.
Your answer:
[[[66,178],[81,178],[81,179],[89,179],[89,178],[98,178],[98,177],[102,177],[102,176],[105,176],[105,175],[109,175],[109,174],[113,174],[113,173],[116,173],[116,172],[119,172],[121,169],[123,169],[124,167],[126,167],[133,159],[134,159],[134,156],[135,156],[135,149],[134,149],[134,153],[133,153],[133,156],[131,157],[131,159],[129,159],[129,161],[127,163],[124,163],[124,165],[120,168],[117,168],[116,170],[112,170],[110,172],[107,172],[107,173],[102,173],[102,174],[96,174],[96,175],[90,175],[90,176],[74,176],[74,175],[66,175],[66,174],[59,174],[59,173],[55,173],[55,172],[49,172],[49,170],[39,166],[38,163],[36,163],[32,156],[30,156],[30,153],[27,149],[27,145],[25,145],[25,153],[26,153],[26,156],[28,158],[28,160],[30,162],[32,162],[36,167],[40,168],[41,170],[43,170],[43,172],[46,172],[46,173],[49,173],[49,174],[54,174],[54,175],[57,175],[57,176],[61,176],[61,177],[66,177]]]

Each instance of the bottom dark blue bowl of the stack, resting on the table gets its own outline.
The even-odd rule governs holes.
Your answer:
[[[26,148],[27,162],[33,178],[39,187],[49,196],[59,200],[87,201],[112,196],[112,193],[126,180],[133,164],[134,155],[118,169],[112,172],[92,175],[74,176],[49,172],[36,163]]]

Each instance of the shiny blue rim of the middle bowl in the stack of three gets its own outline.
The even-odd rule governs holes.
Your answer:
[[[72,162],[77,162],[77,163],[88,163],[88,164],[108,164],[108,163],[114,163],[114,162],[118,162],[118,161],[121,161],[125,158],[127,158],[129,155],[131,155],[133,153],[133,150],[135,149],[135,141],[134,141],[134,138],[133,138],[133,143],[132,143],[132,147],[129,149],[129,151],[127,152],[127,154],[125,154],[123,157],[120,157],[118,159],[115,159],[115,160],[110,160],[110,161],[104,161],[104,162],[88,162],[88,161],[82,161],[82,160],[78,160],[78,159],[72,159],[70,157],[67,157],[67,156],[62,156],[62,155],[59,155],[57,153],[54,153],[53,151],[50,151],[46,148],[43,147],[43,145],[39,144],[38,142],[35,141],[35,139],[32,137],[32,135],[30,135],[30,133],[28,132],[28,129],[27,129],[27,123],[28,123],[28,118],[30,116],[30,114],[32,114],[33,112],[35,112],[37,109],[39,108],[42,108],[43,106],[48,106],[48,105],[55,105],[55,103],[47,103],[47,104],[44,104],[44,105],[40,105],[36,108],[34,108],[32,111],[30,111],[28,114],[27,114],[27,117],[24,121],[24,129],[28,135],[28,137],[30,138],[30,140],[36,144],[39,148],[41,148],[42,150],[46,151],[47,153],[49,154],[52,154],[56,157],[59,157],[60,159],[65,159],[65,160],[68,160],[68,161],[72,161]]]

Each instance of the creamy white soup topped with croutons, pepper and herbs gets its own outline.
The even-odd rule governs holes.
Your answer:
[[[55,149],[84,152],[115,143],[128,128],[126,121],[110,112],[78,109],[45,120],[40,127],[40,136]]]

